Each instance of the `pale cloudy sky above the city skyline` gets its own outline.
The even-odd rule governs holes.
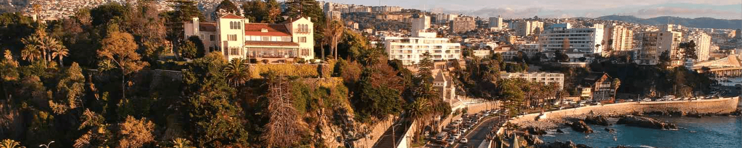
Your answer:
[[[324,0],[367,6],[389,5],[433,13],[460,13],[469,16],[505,18],[588,17],[608,15],[678,16],[742,19],[741,0]]]

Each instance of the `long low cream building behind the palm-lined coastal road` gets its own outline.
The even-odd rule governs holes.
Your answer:
[[[525,78],[527,81],[543,82],[544,84],[557,83],[559,90],[564,89],[564,74],[562,73],[501,73],[500,78]]]

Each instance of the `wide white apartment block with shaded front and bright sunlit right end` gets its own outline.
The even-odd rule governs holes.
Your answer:
[[[565,39],[568,49],[582,53],[602,53],[603,24],[594,24],[590,28],[571,28],[571,24],[554,24],[539,36],[542,51],[554,52],[564,49]]]

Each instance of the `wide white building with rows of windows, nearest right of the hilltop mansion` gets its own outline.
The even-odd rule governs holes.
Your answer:
[[[461,58],[461,44],[451,43],[448,38],[386,37],[384,48],[389,59],[399,59],[404,65],[420,62],[423,53],[433,55],[434,61]]]

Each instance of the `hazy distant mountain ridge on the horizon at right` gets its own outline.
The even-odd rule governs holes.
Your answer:
[[[696,28],[716,28],[716,29],[740,29],[742,28],[741,19],[713,19],[713,18],[680,18],[674,16],[660,16],[650,19],[641,19],[635,16],[600,16],[596,19],[606,21],[626,21],[637,24],[680,24],[683,27]]]

